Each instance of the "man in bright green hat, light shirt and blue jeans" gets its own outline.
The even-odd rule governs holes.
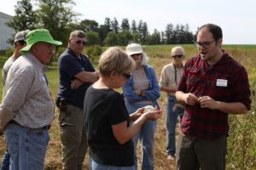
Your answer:
[[[26,47],[10,67],[0,105],[0,132],[11,156],[11,169],[44,169],[49,125],[54,103],[45,77],[46,66],[61,45],[49,31],[38,29],[26,35]]]

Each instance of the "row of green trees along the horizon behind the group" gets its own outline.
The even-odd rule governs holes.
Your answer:
[[[33,5],[32,5],[33,3]],[[15,5],[15,16],[7,23],[15,31],[48,29],[50,34],[67,45],[69,34],[73,30],[82,30],[86,33],[88,45],[125,46],[129,42],[141,44],[189,44],[193,43],[195,35],[189,31],[189,25],[172,23],[166,25],[165,31],[148,32],[145,21],[130,21],[125,18],[119,24],[105,18],[104,24],[99,25],[96,20],[77,21],[72,7],[73,0],[18,0]],[[36,8],[36,9],[34,9]],[[13,41],[9,41],[13,42]]]

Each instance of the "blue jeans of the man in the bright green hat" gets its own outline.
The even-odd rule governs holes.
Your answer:
[[[11,157],[11,170],[44,170],[49,133],[44,128],[28,128],[9,123],[4,139]]]

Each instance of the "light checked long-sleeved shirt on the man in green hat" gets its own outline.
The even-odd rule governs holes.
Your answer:
[[[54,103],[45,78],[46,70],[30,53],[16,59],[3,88],[0,116],[8,117],[13,113],[13,120],[24,127],[49,125],[54,119]],[[0,126],[4,127],[3,124]]]

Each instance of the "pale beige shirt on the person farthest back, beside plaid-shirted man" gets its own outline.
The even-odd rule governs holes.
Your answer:
[[[169,65],[164,66],[161,72],[161,77],[160,77],[160,87],[165,86],[168,88],[177,88],[177,83],[179,82],[182,72],[183,72],[183,66],[180,69],[175,68],[175,66],[173,65],[173,62]],[[171,94],[175,95],[175,93],[171,93]]]

